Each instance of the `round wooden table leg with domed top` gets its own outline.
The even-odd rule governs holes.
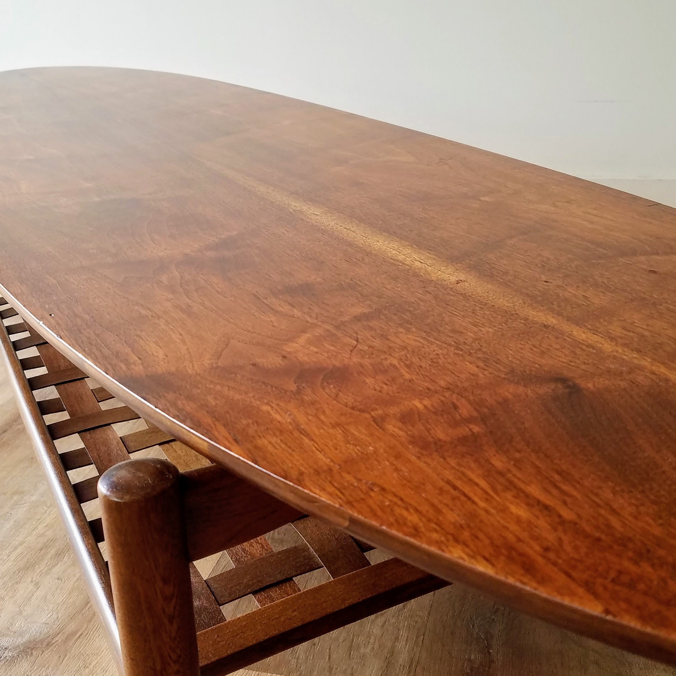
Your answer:
[[[128,460],[99,479],[125,676],[198,676],[178,470]]]

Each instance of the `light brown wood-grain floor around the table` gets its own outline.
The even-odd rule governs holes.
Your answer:
[[[0,673],[116,674],[4,370]],[[237,672],[260,674],[676,676],[676,669],[530,619],[454,585]]]

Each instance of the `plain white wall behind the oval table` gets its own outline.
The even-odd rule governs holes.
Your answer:
[[[676,0],[0,0],[0,70],[80,64],[246,84],[579,176],[676,179]]]

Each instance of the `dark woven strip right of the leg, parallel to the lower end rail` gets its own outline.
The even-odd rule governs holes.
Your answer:
[[[301,544],[242,562],[229,571],[208,577],[206,583],[223,605],[321,567],[312,550]]]

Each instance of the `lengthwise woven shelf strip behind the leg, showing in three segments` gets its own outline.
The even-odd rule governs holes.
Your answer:
[[[41,345],[38,347],[38,352],[50,371],[72,366],[71,362],[51,345]],[[64,402],[71,418],[101,411],[101,406],[99,406],[99,402],[97,402],[86,381],[63,383],[56,386],[56,391],[59,393],[59,397]],[[120,441],[120,436],[110,426],[81,432],[80,439],[84,443],[84,447],[87,448],[99,474],[105,472],[112,465],[129,459],[129,454]]]

